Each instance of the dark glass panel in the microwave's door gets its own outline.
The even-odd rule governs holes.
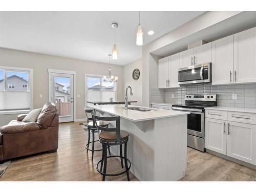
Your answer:
[[[200,80],[200,68],[179,71],[179,82]]]

